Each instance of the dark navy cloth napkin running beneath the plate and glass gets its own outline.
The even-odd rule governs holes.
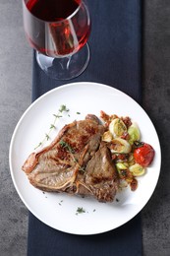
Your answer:
[[[54,81],[38,67],[33,52],[32,100],[64,83],[97,82],[142,100],[141,0],[88,0],[92,30],[90,62],[85,72],[71,81]],[[126,213],[125,213],[126,215]],[[75,235],[28,216],[28,256],[138,256],[142,255],[140,214],[112,231]]]

